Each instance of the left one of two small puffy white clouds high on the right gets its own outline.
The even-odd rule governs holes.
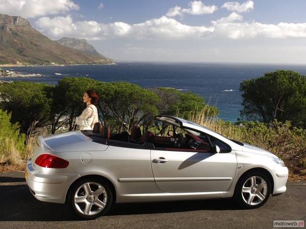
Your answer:
[[[190,8],[182,9],[179,6],[175,6],[168,10],[167,17],[183,16],[184,14],[192,15],[202,15],[202,14],[212,14],[218,7],[216,6],[206,6],[201,1],[193,1],[188,4]]]

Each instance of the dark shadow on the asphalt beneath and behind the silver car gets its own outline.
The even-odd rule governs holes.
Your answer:
[[[0,221],[78,220],[67,205],[35,199],[24,178],[0,177]],[[20,184],[19,184],[20,183]],[[14,185],[13,185],[14,184]],[[231,199],[115,204],[107,216],[238,209]]]

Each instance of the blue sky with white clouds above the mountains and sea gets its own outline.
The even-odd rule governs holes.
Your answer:
[[[0,0],[52,40],[114,61],[306,64],[305,0]]]

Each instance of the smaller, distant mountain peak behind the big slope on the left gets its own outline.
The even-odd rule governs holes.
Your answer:
[[[104,55],[98,53],[97,50],[95,50],[95,48],[92,45],[88,44],[87,40],[85,39],[63,37],[62,39],[57,40],[55,42],[67,46],[69,48],[74,48],[81,52],[85,52],[89,55],[105,57]]]

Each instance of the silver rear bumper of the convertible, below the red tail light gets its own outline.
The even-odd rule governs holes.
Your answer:
[[[59,204],[65,203],[70,185],[78,178],[79,174],[55,173],[53,168],[34,170],[31,158],[25,172],[25,180],[36,199]]]

